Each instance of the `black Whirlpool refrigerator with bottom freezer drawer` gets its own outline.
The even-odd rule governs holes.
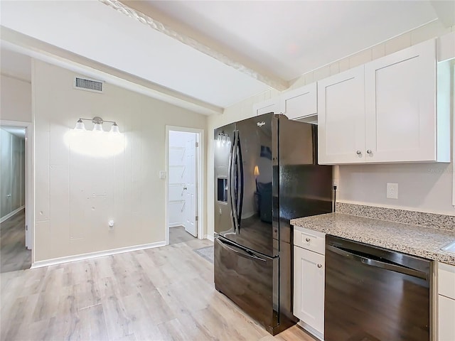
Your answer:
[[[263,114],[215,129],[215,288],[272,335],[294,325],[289,220],[332,212],[317,126]]]

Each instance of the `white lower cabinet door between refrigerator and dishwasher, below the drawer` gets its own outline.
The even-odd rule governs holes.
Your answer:
[[[324,256],[294,247],[294,315],[323,334]]]

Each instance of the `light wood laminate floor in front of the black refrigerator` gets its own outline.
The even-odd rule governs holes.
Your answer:
[[[0,274],[1,340],[314,341],[272,337],[213,285],[193,239],[167,247]]]

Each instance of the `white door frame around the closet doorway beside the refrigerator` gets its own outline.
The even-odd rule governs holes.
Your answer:
[[[182,131],[186,133],[195,133],[196,141],[199,143],[199,148],[196,148],[196,210],[198,214],[198,239],[206,238],[203,234],[205,220],[203,215],[203,202],[204,202],[204,178],[205,178],[205,144],[204,144],[204,130],[196,128],[187,128],[183,126],[168,126],[166,125],[166,245],[169,244],[169,207],[168,207],[168,190],[169,190],[169,131]]]

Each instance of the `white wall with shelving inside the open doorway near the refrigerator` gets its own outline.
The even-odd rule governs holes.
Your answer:
[[[188,139],[195,133],[185,131],[169,131],[169,191],[168,191],[168,216],[169,226],[183,225],[186,217],[186,193],[183,191],[188,182],[185,171],[185,149]]]

